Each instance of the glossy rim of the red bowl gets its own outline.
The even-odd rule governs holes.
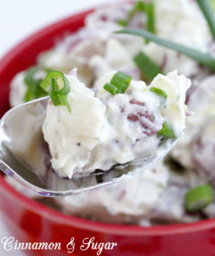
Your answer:
[[[86,16],[94,9],[88,9],[81,11],[76,15],[70,15],[65,19],[54,22],[49,26],[45,26],[41,30],[34,32],[20,43],[16,44],[14,48],[10,49],[0,61],[0,73],[8,67],[9,62],[14,59],[16,55],[19,55],[31,42],[37,40],[37,38],[44,37],[49,32],[53,32],[56,28],[63,26],[71,20],[78,18],[79,16]],[[22,195],[19,191],[14,189],[6,180],[3,175],[0,174],[0,188],[4,189],[4,192],[11,197],[12,200],[20,203],[26,209],[41,215],[42,218],[48,218],[58,224],[65,224],[67,226],[76,227],[82,230],[90,230],[102,232],[104,234],[123,235],[123,236],[163,236],[184,234],[196,231],[208,230],[215,228],[215,218],[205,219],[194,223],[188,224],[169,224],[169,225],[155,225],[150,227],[144,227],[139,225],[128,224],[109,224],[98,221],[92,221],[85,218],[78,218],[71,215],[66,215],[64,212],[51,209],[42,203],[39,203],[25,195]]]

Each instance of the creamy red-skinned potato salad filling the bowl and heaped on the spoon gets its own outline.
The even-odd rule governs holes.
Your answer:
[[[10,105],[50,94],[42,131],[54,172],[70,179],[143,165],[118,183],[65,198],[42,200],[8,182],[59,211],[107,223],[214,218],[214,11],[210,0],[105,5],[38,55],[14,76]],[[164,143],[172,149],[156,162]]]

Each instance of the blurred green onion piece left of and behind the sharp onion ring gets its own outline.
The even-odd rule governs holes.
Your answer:
[[[40,83],[42,79],[37,78],[37,72],[44,72],[47,74],[50,70],[46,67],[31,67],[27,70],[24,82],[27,85],[25,93],[25,102],[30,102],[43,96],[47,96],[48,93],[42,90]]]

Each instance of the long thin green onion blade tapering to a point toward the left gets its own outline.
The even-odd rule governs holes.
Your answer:
[[[124,29],[124,30],[116,32],[116,33],[126,33],[126,34],[132,34],[132,35],[136,35],[139,37],[147,38],[148,40],[155,42],[156,44],[167,47],[168,49],[174,49],[174,50],[180,52],[181,54],[187,55],[191,59],[201,63],[203,66],[206,66],[209,69],[211,69],[212,71],[215,71],[215,58],[213,58],[211,55],[201,53],[196,49],[192,49],[190,47],[187,47],[187,46],[184,46],[181,44],[176,44],[176,43],[167,41],[163,38],[158,38],[158,37],[156,37],[155,34],[144,31],[144,30]]]

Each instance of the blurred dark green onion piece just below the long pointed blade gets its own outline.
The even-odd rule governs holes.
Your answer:
[[[133,58],[133,61],[149,82],[152,81],[158,73],[161,73],[160,67],[155,62],[151,61],[143,52],[139,52],[139,54]]]

